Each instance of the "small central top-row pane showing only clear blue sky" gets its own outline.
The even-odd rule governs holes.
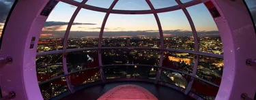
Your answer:
[[[119,0],[113,10],[150,10],[145,0]]]

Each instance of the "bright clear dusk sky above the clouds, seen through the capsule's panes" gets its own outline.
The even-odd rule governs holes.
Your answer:
[[[109,7],[113,0],[89,0],[88,5],[97,7]],[[169,7],[177,5],[175,1],[156,1],[152,0],[152,4],[156,8]],[[48,17],[47,21],[69,22],[76,7],[66,3],[59,3],[55,10]],[[119,0],[114,10],[150,10],[145,0]],[[188,12],[193,17],[193,21],[197,27],[197,31],[216,31],[216,25],[212,16],[203,4],[188,7]],[[94,12],[82,9],[74,22],[94,23],[95,25],[73,25],[72,31],[100,31],[102,20],[105,14],[102,12]],[[188,20],[182,10],[173,12],[165,12],[158,14],[163,30],[191,30]],[[83,28],[82,28],[83,27]],[[47,29],[46,29],[47,30]],[[66,26],[62,26],[58,30],[66,30]],[[156,20],[153,14],[145,15],[122,15],[111,14],[106,22],[105,31],[144,31],[158,30]]]

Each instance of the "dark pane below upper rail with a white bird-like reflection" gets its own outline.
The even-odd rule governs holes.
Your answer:
[[[82,52],[70,52],[67,55],[68,72],[79,71],[90,67],[98,67],[98,51],[88,50]]]

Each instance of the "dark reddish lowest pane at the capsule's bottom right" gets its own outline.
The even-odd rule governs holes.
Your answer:
[[[214,100],[218,93],[218,87],[195,79],[190,91],[204,99]]]

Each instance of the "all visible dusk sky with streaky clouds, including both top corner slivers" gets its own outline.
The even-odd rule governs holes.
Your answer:
[[[0,0],[0,33],[3,23],[8,15],[14,0]],[[75,0],[82,1],[82,0]],[[174,0],[150,0],[156,9],[177,5]],[[183,3],[191,0],[181,0]],[[109,8],[113,0],[89,0],[86,4],[96,7]],[[256,1],[246,0],[254,18],[256,17]],[[145,0],[119,0],[114,10],[150,10]],[[59,33],[66,31],[66,27],[76,7],[59,2],[53,12],[46,20],[42,33]],[[197,31],[218,31],[212,16],[203,3],[187,7],[190,16],[193,18]],[[82,9],[72,26],[71,31],[98,32],[104,19],[105,13]],[[158,13],[162,29],[165,31],[191,31],[190,24],[182,10],[173,12]],[[57,32],[59,31],[59,32]],[[153,14],[143,15],[122,15],[110,14],[104,31],[127,32],[143,31],[157,32],[158,26]],[[145,34],[145,33],[144,33]],[[167,33],[168,34],[168,33]]]

